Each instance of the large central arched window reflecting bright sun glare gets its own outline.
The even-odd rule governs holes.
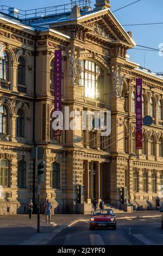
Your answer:
[[[81,85],[84,86],[84,96],[92,99],[99,98],[104,90],[104,72],[92,61],[82,61]]]

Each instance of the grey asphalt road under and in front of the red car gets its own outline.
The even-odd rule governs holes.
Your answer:
[[[117,230],[89,230],[89,223],[79,222],[48,245],[163,245],[161,218],[119,219]]]

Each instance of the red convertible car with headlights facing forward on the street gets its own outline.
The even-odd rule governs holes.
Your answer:
[[[90,230],[95,228],[113,228],[116,229],[116,215],[111,209],[95,210],[90,218]]]

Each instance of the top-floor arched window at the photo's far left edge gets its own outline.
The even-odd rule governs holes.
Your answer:
[[[1,79],[9,80],[9,57],[7,53],[1,53]]]

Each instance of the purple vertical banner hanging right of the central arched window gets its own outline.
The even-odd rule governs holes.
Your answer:
[[[142,149],[142,79],[136,79],[136,150]]]

